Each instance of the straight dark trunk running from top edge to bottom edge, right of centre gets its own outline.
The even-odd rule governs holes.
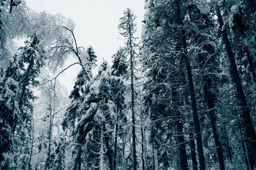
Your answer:
[[[176,0],[176,6],[177,6],[177,18],[179,20],[181,28],[181,40],[182,40],[182,46],[184,48],[185,54],[183,54],[183,60],[186,63],[186,69],[187,69],[187,76],[189,80],[189,91],[190,91],[190,97],[191,97],[191,104],[192,104],[192,111],[193,111],[193,118],[194,118],[194,124],[195,124],[195,137],[196,137],[196,142],[197,142],[197,147],[198,147],[198,158],[199,158],[199,165],[200,165],[200,170],[206,170],[205,168],[205,161],[204,161],[204,150],[203,150],[203,144],[202,144],[202,137],[201,137],[201,130],[200,130],[200,123],[198,119],[198,110],[197,110],[197,104],[196,104],[196,99],[195,99],[195,90],[194,90],[194,84],[193,84],[193,79],[192,79],[192,71],[191,71],[191,66],[190,62],[187,58],[187,44],[186,44],[186,35],[185,31],[183,29],[183,20],[181,17],[181,12],[180,12],[180,2],[179,0]]]

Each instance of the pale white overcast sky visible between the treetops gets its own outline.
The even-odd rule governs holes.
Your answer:
[[[123,11],[130,8],[137,16],[137,34],[140,37],[141,21],[144,16],[144,0],[26,0],[27,6],[34,11],[47,11],[51,14],[60,13],[64,17],[73,19],[76,24],[74,31],[78,46],[87,48],[92,45],[99,65],[102,58],[112,65],[111,56],[116,53],[124,40],[119,35],[119,18]],[[66,65],[75,62],[67,61]],[[80,71],[80,66],[74,65],[59,78],[61,84],[67,87],[68,93],[73,89],[74,80]],[[97,69],[93,70],[93,74]]]

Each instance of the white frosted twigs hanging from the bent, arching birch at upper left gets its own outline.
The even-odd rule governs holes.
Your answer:
[[[44,11],[32,14],[30,20],[29,35],[37,37],[38,50],[45,53],[47,66],[52,71],[62,67],[68,57],[78,54],[73,35],[75,24],[71,19]]]

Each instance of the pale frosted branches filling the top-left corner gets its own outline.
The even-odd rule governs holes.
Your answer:
[[[14,54],[14,39],[26,36],[32,11],[24,0],[0,0],[0,68],[6,68]]]

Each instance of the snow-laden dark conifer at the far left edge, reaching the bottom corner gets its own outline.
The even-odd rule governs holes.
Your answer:
[[[13,167],[13,132],[20,110],[17,103],[19,85],[17,79],[20,67],[17,56],[12,57],[6,73],[0,78],[0,168],[9,170]]]

